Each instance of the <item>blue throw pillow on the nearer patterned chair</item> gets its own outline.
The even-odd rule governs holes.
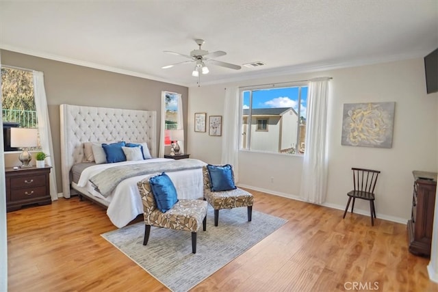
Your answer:
[[[177,189],[173,185],[170,177],[165,174],[159,174],[149,178],[151,184],[153,198],[157,203],[157,209],[165,213],[172,209],[173,205],[178,202]]]

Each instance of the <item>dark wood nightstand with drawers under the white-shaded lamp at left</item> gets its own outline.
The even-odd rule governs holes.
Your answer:
[[[6,211],[15,211],[27,204],[51,204],[50,169],[49,165],[18,170],[5,168]]]

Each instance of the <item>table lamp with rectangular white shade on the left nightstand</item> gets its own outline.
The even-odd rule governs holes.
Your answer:
[[[18,159],[21,161],[21,168],[29,168],[32,155],[27,151],[28,147],[36,147],[38,140],[38,129],[11,128],[11,147],[23,148]]]

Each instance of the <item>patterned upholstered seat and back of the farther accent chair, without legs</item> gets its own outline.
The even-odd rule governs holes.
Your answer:
[[[234,172],[232,174],[234,179]],[[203,184],[204,198],[215,210],[250,207],[254,204],[253,195],[238,187],[231,191],[211,191],[210,177],[206,166],[203,166]]]

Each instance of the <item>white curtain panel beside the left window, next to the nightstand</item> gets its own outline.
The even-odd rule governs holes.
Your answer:
[[[46,90],[44,89],[44,75],[42,72],[33,71],[34,76],[34,99],[36,114],[38,117],[38,133],[40,133],[40,143],[42,152],[50,155],[46,159],[47,165],[52,167],[50,172],[50,196],[52,200],[57,200],[56,170],[55,159],[53,157],[53,143],[50,129],[49,109],[47,108]]]

